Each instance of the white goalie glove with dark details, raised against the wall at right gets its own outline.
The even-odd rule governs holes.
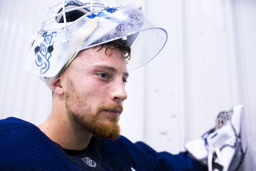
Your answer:
[[[207,163],[209,171],[238,169],[246,151],[241,143],[243,111],[243,105],[237,105],[228,112],[221,112],[213,129],[202,138],[185,143],[188,153],[194,159]]]

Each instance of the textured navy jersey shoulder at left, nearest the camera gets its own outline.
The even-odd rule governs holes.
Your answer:
[[[0,170],[76,170],[34,124],[18,119],[0,120]]]

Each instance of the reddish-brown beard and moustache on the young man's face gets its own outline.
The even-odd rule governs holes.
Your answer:
[[[68,80],[68,90],[65,94],[65,99],[67,114],[77,124],[76,126],[99,138],[118,138],[120,134],[120,126],[118,125],[119,117],[110,115],[101,116],[103,115],[103,111],[119,110],[121,114],[123,110],[121,104],[100,105],[96,112],[91,112],[90,106],[82,100],[84,97],[77,92],[74,83],[70,79]],[[76,109],[77,104],[78,107],[80,106],[80,109]],[[81,108],[87,108],[87,110],[81,110]]]

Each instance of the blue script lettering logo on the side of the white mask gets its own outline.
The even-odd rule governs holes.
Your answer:
[[[35,64],[37,67],[41,68],[40,75],[45,74],[50,68],[49,59],[52,56],[54,39],[56,37],[56,32],[52,32],[47,35],[45,32],[44,40],[41,42],[38,52],[35,54]]]

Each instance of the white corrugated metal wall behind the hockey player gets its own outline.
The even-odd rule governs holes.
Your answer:
[[[51,92],[23,65],[31,35],[52,2],[0,1],[0,118],[39,124],[49,115]],[[178,153],[185,141],[210,129],[221,110],[243,103],[248,144],[243,170],[256,170],[256,1],[130,2],[141,5],[169,39],[157,58],[130,73],[122,134]]]

